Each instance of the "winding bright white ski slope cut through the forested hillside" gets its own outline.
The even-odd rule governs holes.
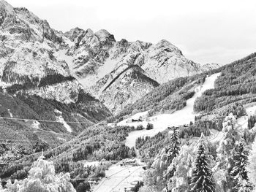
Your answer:
[[[148,118],[148,121],[143,120],[143,122],[130,122],[135,116],[138,117],[140,115],[145,115],[140,113],[140,115],[133,115],[132,118],[122,120],[120,123],[118,123],[118,126],[138,126],[142,124],[144,127],[146,127],[147,123],[152,123],[154,125],[154,129],[151,130],[132,131],[127,137],[126,145],[128,147],[135,147],[135,141],[138,137],[153,137],[159,131],[164,131],[168,126],[181,126],[184,124],[189,124],[190,121],[194,122],[195,115],[197,115],[193,110],[195,99],[200,97],[207,89],[214,88],[214,82],[219,75],[220,73],[216,73],[206,77],[206,81],[203,83],[203,85],[195,88],[195,95],[192,96],[191,99],[187,100],[187,106],[182,110],[178,110],[172,114],[156,115]]]

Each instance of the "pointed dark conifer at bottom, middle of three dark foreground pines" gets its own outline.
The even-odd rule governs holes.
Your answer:
[[[208,159],[203,139],[200,139],[197,147],[197,158],[192,171],[191,192],[214,192],[214,179],[211,169],[208,168]]]

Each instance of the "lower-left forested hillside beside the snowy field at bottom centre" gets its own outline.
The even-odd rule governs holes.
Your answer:
[[[116,161],[135,156],[135,149],[124,145],[124,140],[134,127],[91,126],[77,138],[46,150],[44,155],[53,161],[56,173],[69,172],[75,188],[88,185],[86,181],[99,180],[105,176],[105,170]],[[0,178],[23,179],[42,153],[26,155],[12,164],[0,167]],[[84,166],[86,161],[97,161],[99,166]]]

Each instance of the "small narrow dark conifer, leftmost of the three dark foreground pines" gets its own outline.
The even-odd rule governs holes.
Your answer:
[[[178,155],[180,148],[180,142],[178,137],[178,132],[176,130],[173,131],[173,134],[170,137],[170,145],[167,147],[167,162],[168,164],[173,161],[173,158],[175,158]]]

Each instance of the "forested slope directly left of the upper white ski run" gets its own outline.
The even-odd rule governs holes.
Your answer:
[[[150,110],[149,114],[154,115],[157,112],[173,112],[181,110],[186,106],[187,99],[191,98],[195,91],[194,89],[203,84],[207,73],[196,74],[192,77],[179,77],[175,80],[170,80],[153,91],[143,96],[135,103],[127,105],[118,115],[109,118],[109,121],[122,120],[125,115],[135,114],[136,112],[144,112]]]

